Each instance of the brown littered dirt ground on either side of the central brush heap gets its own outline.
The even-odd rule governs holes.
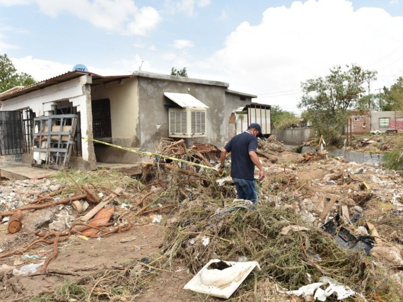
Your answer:
[[[314,221],[310,222],[312,227],[319,228],[323,221],[320,222],[318,216],[325,210],[325,206],[331,196],[337,195],[338,199],[330,208],[329,216],[326,219],[330,219],[340,212],[342,204],[348,206],[350,218],[353,214],[364,212],[367,221],[373,222],[379,237],[386,243],[386,246],[393,247],[398,251],[397,259],[390,260],[390,257],[388,258],[384,254],[373,255],[372,257],[375,257],[376,261],[385,263],[388,268],[394,267],[393,273],[396,274],[397,279],[400,278],[399,284],[401,286],[400,270],[403,268],[403,260],[401,260],[403,249],[401,244],[403,243],[403,237],[401,235],[401,224],[399,223],[403,206],[399,203],[400,195],[398,194],[403,188],[401,176],[394,171],[383,169],[378,164],[346,163],[343,159],[332,159],[325,155],[319,156],[315,154],[303,157],[282,149],[279,142],[274,141],[273,143],[277,144],[277,146],[270,148],[266,142],[265,145],[260,145],[259,147],[259,150],[264,153],[264,156],[259,158],[265,168],[266,177],[261,185],[262,191],[259,193],[260,202],[258,206],[278,207],[284,210],[292,209],[301,214],[302,217],[312,216],[314,218]],[[209,158],[212,158],[212,156]],[[201,172],[197,170],[187,173],[190,173],[190,175],[193,173],[193,177],[199,173],[201,175]],[[147,173],[144,172],[144,174],[146,175]],[[158,172],[155,175],[158,176]],[[190,177],[186,174],[181,175]],[[108,177],[116,178],[116,175],[113,174]],[[107,176],[103,174],[100,178],[105,180]],[[80,181],[86,183],[83,179]],[[144,181],[143,177],[143,185],[146,185],[146,187],[140,189],[140,187],[135,188],[127,184],[124,185],[121,183],[122,181],[128,181],[128,178],[118,180],[120,182],[118,184],[124,187],[124,194],[116,197],[114,203],[110,202],[114,208],[110,221],[114,221],[115,225],[107,228],[112,229],[116,225],[119,226],[119,221],[121,221],[119,219],[123,215],[126,215],[126,220],[130,219],[130,222],[125,222],[126,226],[127,223],[131,223],[130,228],[126,230],[123,227],[108,236],[98,238],[83,237],[80,234],[67,236],[65,241],[57,244],[57,256],[49,262],[47,272],[41,272],[41,267],[39,267],[35,273],[29,275],[13,274],[15,269],[21,269],[21,267],[30,263],[40,263],[54,254],[54,244],[45,242],[23,250],[28,244],[38,239],[38,236],[34,234],[37,230],[41,231],[40,234],[66,232],[69,230],[69,226],[79,221],[79,218],[94,205],[90,204],[89,209],[81,214],[75,211],[69,203],[37,210],[24,210],[22,228],[15,234],[8,232],[8,223],[3,219],[2,224],[0,224],[0,287],[2,288],[0,301],[40,301],[41,295],[52,295],[55,291],[55,286],[69,280],[75,280],[75,282],[81,280],[81,284],[90,284],[87,285],[88,290],[98,294],[103,288],[105,290],[104,295],[98,295],[98,298],[93,296],[88,298],[88,300],[94,301],[134,299],[151,302],[206,300],[206,295],[183,289],[183,286],[193,277],[191,266],[186,262],[186,258],[172,259],[169,263],[170,265],[165,266],[159,266],[153,261],[156,257],[155,255],[163,255],[164,251],[166,251],[166,249],[163,249],[163,246],[167,245],[164,232],[172,225],[172,221],[176,219],[179,209],[176,204],[172,205],[172,200],[165,200],[165,203],[161,201],[160,210],[153,206],[147,207],[148,204],[153,203],[153,199],[145,195],[153,196],[153,186],[160,186],[157,188],[159,189],[158,193],[164,195],[164,192],[171,190],[171,186],[178,186],[181,183],[173,182],[169,177],[156,177],[151,180],[153,182],[153,186],[151,186],[150,183]],[[158,182],[163,184],[158,185]],[[109,189],[114,190],[116,183],[112,183],[112,180],[109,183]],[[51,186],[57,187],[51,188]],[[60,179],[57,178],[28,181],[3,180],[0,189],[0,211],[5,212],[13,210],[13,208],[37,204],[35,200],[39,198],[39,195],[46,196],[59,188],[63,188],[63,186],[63,182],[60,182]],[[74,187],[75,185],[71,184],[70,186]],[[96,187],[97,185],[93,186],[93,188]],[[184,196],[189,196],[188,198],[191,200],[189,192],[192,189],[186,187],[186,190],[178,190],[178,192]],[[229,190],[230,192],[222,191],[221,196],[235,197],[233,186],[230,186]],[[96,190],[94,189],[93,191]],[[196,194],[194,190],[191,192],[194,195]],[[66,191],[56,195],[58,197],[54,198],[56,200],[57,198],[58,200],[65,198],[65,193]],[[73,193],[70,194],[74,195]],[[77,195],[77,193],[75,194]],[[110,191],[104,190],[104,195],[108,194],[110,194]],[[203,190],[197,194],[203,195]],[[170,198],[173,198],[172,195],[170,195]],[[208,199],[209,196],[203,196],[203,198]],[[143,200],[143,203],[139,202],[141,200]],[[181,198],[181,200],[182,203],[187,202],[186,199]],[[395,204],[392,204],[391,201],[393,200]],[[147,210],[154,210],[150,213],[145,213],[144,211],[139,213],[138,209],[141,209],[142,206],[146,206]],[[164,208],[164,206],[167,207]],[[377,222],[377,218],[382,215],[389,215],[391,210],[394,210],[396,215],[400,217],[400,220],[395,222],[394,226]],[[153,213],[154,216],[150,216]],[[183,214],[183,211],[181,213]],[[161,214],[161,222],[152,222],[157,214]],[[63,220],[65,221],[64,229],[59,231],[50,230],[49,223],[60,219],[65,219]],[[345,223],[345,225],[349,224],[348,222]],[[123,225],[123,223],[121,224]],[[354,228],[350,230],[352,233],[356,231]],[[105,233],[105,231],[103,232]],[[354,234],[357,235],[357,233]],[[4,257],[4,255],[13,252],[15,253]],[[108,271],[122,272],[121,278],[126,278],[127,274],[123,274],[124,268],[130,267],[131,269],[133,262],[140,263],[148,274],[142,280],[144,283],[139,286],[135,294],[131,295],[131,298],[122,293],[113,296],[111,294],[113,291],[107,292],[106,285],[100,287],[105,283],[104,281],[110,280],[111,277],[107,275]],[[104,275],[101,274],[100,277],[98,275],[95,277],[100,271],[104,271]],[[136,271],[130,271],[129,275],[137,276],[137,273]],[[92,283],[83,281],[91,278],[94,278]],[[124,283],[123,279],[117,279],[114,281],[114,285],[109,284],[108,286],[113,287],[119,282]],[[266,283],[262,285],[262,288],[272,288],[275,284],[269,279],[263,281]],[[259,291],[259,288],[257,288],[257,291]],[[253,288],[251,290],[253,291]],[[258,298],[258,300],[274,301],[283,299],[284,301],[296,301],[301,299],[296,296],[291,297],[288,294],[284,294],[279,298],[278,293],[270,296],[267,292],[262,297]],[[43,300],[46,299],[44,298]],[[66,298],[66,300],[86,299]],[[213,300],[218,301],[221,299]],[[244,300],[249,299],[245,298]],[[256,300],[256,296],[250,298],[250,300]]]

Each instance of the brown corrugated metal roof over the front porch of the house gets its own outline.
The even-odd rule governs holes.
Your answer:
[[[76,78],[80,78],[84,74],[91,75],[92,85],[98,85],[98,84],[117,81],[117,80],[121,80],[121,79],[136,77],[136,75],[132,75],[132,74],[113,75],[113,76],[109,76],[109,77],[103,77],[102,75],[88,72],[88,71],[68,71],[66,73],[57,75],[57,77],[50,78],[45,81],[38,82],[38,83],[35,83],[33,85],[30,85],[30,86],[27,86],[27,87],[24,87],[24,88],[21,88],[18,90],[14,90],[9,93],[0,94],[0,101],[6,101],[6,100],[16,98],[16,97],[25,95],[27,93],[30,93],[30,92],[33,92],[36,90],[40,90],[40,89],[55,85],[55,84],[59,84],[59,83],[67,82],[67,81],[70,81],[70,80],[73,80]]]

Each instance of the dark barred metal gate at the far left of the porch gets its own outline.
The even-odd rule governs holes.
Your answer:
[[[22,154],[23,150],[21,111],[0,111],[0,155]]]

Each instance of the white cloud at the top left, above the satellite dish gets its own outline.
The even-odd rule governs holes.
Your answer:
[[[89,21],[95,27],[121,34],[146,35],[161,21],[152,7],[136,7],[132,0],[36,0],[40,10],[50,17],[68,13]]]

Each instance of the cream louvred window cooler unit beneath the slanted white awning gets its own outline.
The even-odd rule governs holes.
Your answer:
[[[206,108],[169,108],[169,137],[206,136]]]

